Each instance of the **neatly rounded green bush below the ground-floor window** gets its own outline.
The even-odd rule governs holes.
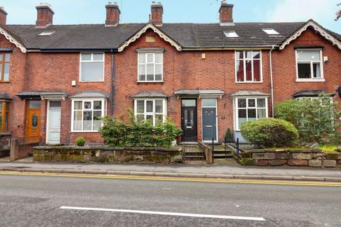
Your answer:
[[[244,122],[241,131],[250,143],[264,148],[289,147],[298,139],[298,131],[292,123],[275,118]]]

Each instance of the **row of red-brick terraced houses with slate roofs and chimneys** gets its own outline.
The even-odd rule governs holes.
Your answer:
[[[53,25],[48,4],[33,25],[9,25],[0,9],[1,135],[43,143],[102,143],[99,117],[129,107],[153,123],[173,118],[179,142],[222,141],[244,121],[271,117],[286,99],[340,99],[341,35],[313,20],[235,23],[222,1],[218,23]],[[335,95],[337,94],[337,95]]]

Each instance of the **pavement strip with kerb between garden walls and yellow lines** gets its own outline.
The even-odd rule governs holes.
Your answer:
[[[81,164],[62,162],[0,162],[0,171],[63,172],[101,175],[146,175],[163,177],[206,177],[236,179],[278,179],[341,182],[341,170],[313,167],[245,167],[213,165]]]

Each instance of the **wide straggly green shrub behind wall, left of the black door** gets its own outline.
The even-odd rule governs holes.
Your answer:
[[[122,118],[106,116],[103,126],[99,128],[104,143],[111,147],[159,147],[169,148],[179,135],[181,129],[167,119],[153,126],[151,121],[137,122],[134,114],[128,111],[129,122]]]

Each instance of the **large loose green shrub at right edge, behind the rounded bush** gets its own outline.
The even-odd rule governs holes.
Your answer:
[[[340,116],[337,102],[325,95],[320,99],[291,99],[276,105],[276,118],[293,123],[305,143],[340,144],[340,121],[334,121]]]

